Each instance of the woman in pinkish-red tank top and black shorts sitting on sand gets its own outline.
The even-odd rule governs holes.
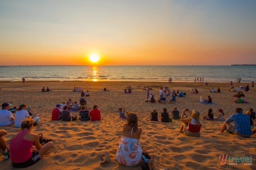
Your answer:
[[[39,161],[53,146],[48,142],[42,146],[37,134],[31,133],[33,119],[26,118],[21,122],[21,131],[12,136],[10,141],[10,158],[12,166],[26,168]]]

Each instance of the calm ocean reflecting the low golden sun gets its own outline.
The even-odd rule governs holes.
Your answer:
[[[251,82],[256,66],[1,66],[0,80]]]

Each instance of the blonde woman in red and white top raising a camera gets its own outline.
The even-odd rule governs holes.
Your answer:
[[[184,114],[188,111],[188,113],[191,115],[191,118],[184,118]],[[200,119],[200,113],[197,110],[193,110],[192,113],[189,109],[182,110],[182,114],[180,116],[180,120],[183,122],[179,132],[184,131],[184,134],[186,136],[191,137],[200,137],[200,129],[202,121]]]

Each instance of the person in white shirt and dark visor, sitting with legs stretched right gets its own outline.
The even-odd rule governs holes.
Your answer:
[[[32,119],[29,116],[28,111],[26,109],[27,109],[27,105],[26,104],[22,104],[22,105],[19,106],[18,111],[15,114],[14,128],[20,128],[21,122],[24,119],[26,119],[26,118]],[[39,117],[34,117],[33,120],[36,123],[35,125],[38,125],[38,124],[41,123]]]

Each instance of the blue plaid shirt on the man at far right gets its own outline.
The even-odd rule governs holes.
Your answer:
[[[236,113],[226,119],[226,123],[235,122],[234,128],[240,135],[252,135],[252,129],[250,126],[250,117],[243,113]]]

